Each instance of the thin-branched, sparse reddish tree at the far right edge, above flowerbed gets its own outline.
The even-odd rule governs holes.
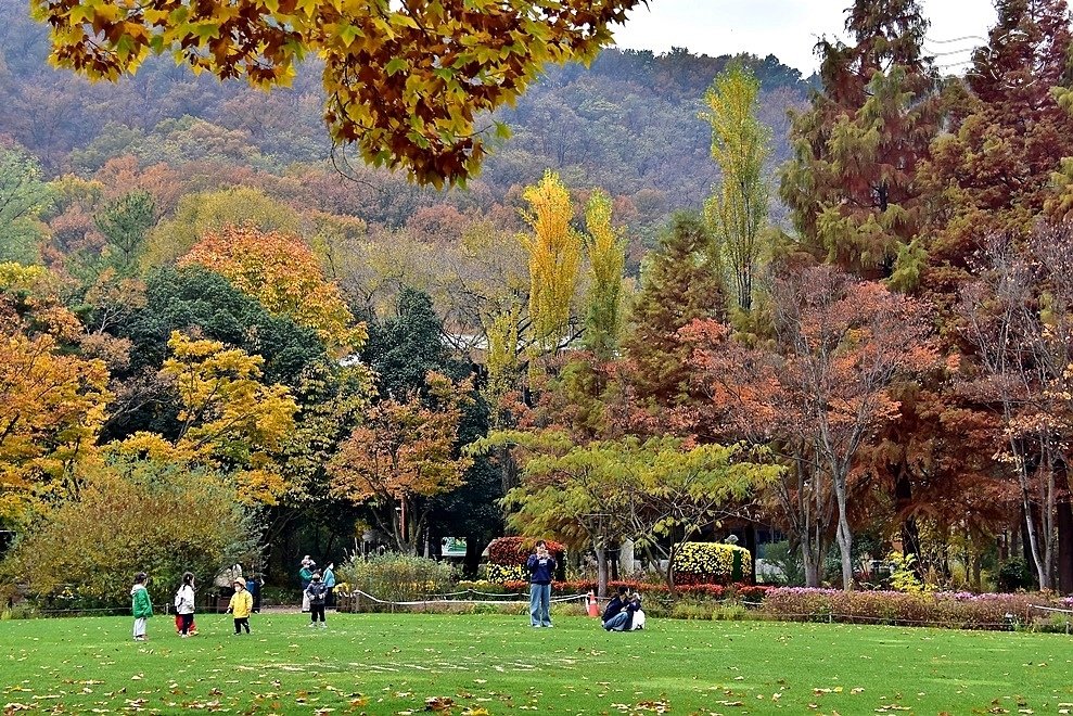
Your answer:
[[[1040,228],[1023,246],[1008,235],[992,236],[983,270],[960,296],[980,367],[967,389],[999,418],[1006,443],[999,465],[1015,477],[1042,589],[1056,584],[1059,500],[1070,489],[1073,457],[1070,239],[1068,227]]]

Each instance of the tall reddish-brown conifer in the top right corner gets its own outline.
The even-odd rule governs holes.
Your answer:
[[[1052,182],[1073,155],[1073,116],[1060,106],[1069,88],[1071,34],[1065,0],[1000,0],[987,44],[966,75],[971,95],[920,167],[935,200],[929,213],[925,289],[956,304],[972,280],[973,256],[996,232],[1027,235],[1046,208],[1061,217]]]

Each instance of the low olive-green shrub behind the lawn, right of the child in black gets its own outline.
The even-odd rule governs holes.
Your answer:
[[[451,591],[456,574],[449,562],[387,553],[367,560],[355,555],[336,570],[336,578],[383,602],[410,602]],[[379,611],[391,604],[362,599],[361,609]]]

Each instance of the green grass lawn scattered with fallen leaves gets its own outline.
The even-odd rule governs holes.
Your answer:
[[[150,641],[117,617],[0,622],[0,704],[42,712],[408,714],[1073,713],[1064,635],[559,617],[200,615]],[[429,702],[438,699],[438,702]],[[1063,711],[1068,709],[1068,711]]]

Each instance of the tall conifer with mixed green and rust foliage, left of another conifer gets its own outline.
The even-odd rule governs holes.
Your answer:
[[[820,40],[821,87],[793,115],[782,175],[805,250],[865,278],[889,278],[920,230],[914,180],[940,128],[936,72],[917,0],[856,0],[854,44]]]

